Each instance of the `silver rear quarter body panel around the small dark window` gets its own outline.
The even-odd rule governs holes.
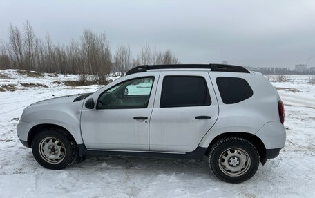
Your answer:
[[[256,135],[266,149],[283,148],[286,132],[280,123],[278,101],[280,97],[276,89],[258,73],[231,74],[229,72],[209,72],[211,79],[217,77],[239,77],[248,81],[254,94],[245,101],[234,104],[222,102],[218,86],[213,86],[219,103],[218,121],[207,135],[202,138],[199,146],[206,147],[216,137],[230,132],[242,132]]]

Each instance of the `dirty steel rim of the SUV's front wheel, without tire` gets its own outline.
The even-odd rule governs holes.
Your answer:
[[[55,137],[46,137],[39,143],[41,158],[50,164],[59,164],[66,156],[64,144]]]

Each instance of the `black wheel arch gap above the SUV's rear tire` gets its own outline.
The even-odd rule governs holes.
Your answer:
[[[267,155],[266,155],[265,144],[256,135],[251,134],[251,133],[247,133],[247,132],[225,132],[225,133],[222,133],[220,135],[217,135],[216,137],[214,137],[211,140],[211,142],[207,148],[206,155],[209,155],[209,151],[211,149],[211,146],[213,146],[218,140],[226,138],[226,137],[241,137],[243,139],[246,139],[247,141],[249,141],[250,143],[252,143],[255,146],[256,150],[258,151],[260,162],[262,163],[262,165],[264,165],[266,163]]]

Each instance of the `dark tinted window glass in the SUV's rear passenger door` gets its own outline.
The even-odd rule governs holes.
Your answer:
[[[160,107],[209,106],[211,99],[203,77],[164,77]]]

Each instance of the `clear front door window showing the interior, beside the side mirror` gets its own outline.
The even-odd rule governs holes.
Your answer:
[[[149,103],[154,77],[124,81],[106,90],[97,101],[97,109],[146,108]]]

